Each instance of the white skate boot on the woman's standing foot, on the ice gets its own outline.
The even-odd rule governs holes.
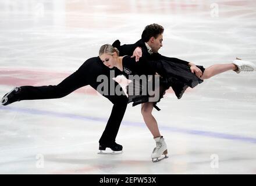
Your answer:
[[[154,148],[151,158],[152,162],[159,162],[162,159],[168,158],[167,156],[167,145],[165,143],[165,139],[161,136],[158,138],[154,138],[157,147]],[[159,159],[162,155],[165,155],[162,159]]]

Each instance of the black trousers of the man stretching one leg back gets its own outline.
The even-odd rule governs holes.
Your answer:
[[[109,71],[108,67],[104,66],[99,58],[91,58],[84,62],[76,72],[65,78],[65,80],[58,85],[41,87],[22,86],[20,100],[62,98],[86,85],[91,85],[91,87],[97,90],[98,85],[101,84],[101,82],[97,82],[97,77],[102,74],[109,77]],[[115,85],[115,88],[121,90],[123,94],[102,94],[113,103],[113,108],[105,130],[99,140],[99,144],[101,145],[109,145],[112,142],[115,142],[128,102],[122,87],[120,87],[116,81],[112,80],[112,78],[108,79],[108,83]]]

